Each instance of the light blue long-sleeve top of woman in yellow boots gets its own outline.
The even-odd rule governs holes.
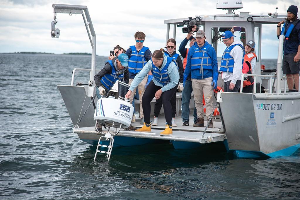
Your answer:
[[[164,55],[163,64],[160,69],[163,69],[166,64],[167,64],[167,56]],[[129,90],[133,91],[134,88],[136,88],[137,85],[139,85],[140,82],[142,82],[142,80],[148,74],[148,72],[150,70],[153,70],[151,60],[148,61],[146,63],[146,65],[143,67],[143,69],[139,73],[137,73],[137,75],[134,77]],[[168,76],[170,77],[170,82],[167,83],[167,85],[165,85],[165,86],[163,86],[160,82],[158,82],[154,77],[152,79],[152,81],[154,82],[155,85],[162,87],[161,91],[163,91],[163,92],[174,88],[178,84],[178,81],[179,81],[179,72],[178,72],[178,69],[177,69],[177,66],[175,63],[171,62],[169,64],[167,73],[168,73]]]

